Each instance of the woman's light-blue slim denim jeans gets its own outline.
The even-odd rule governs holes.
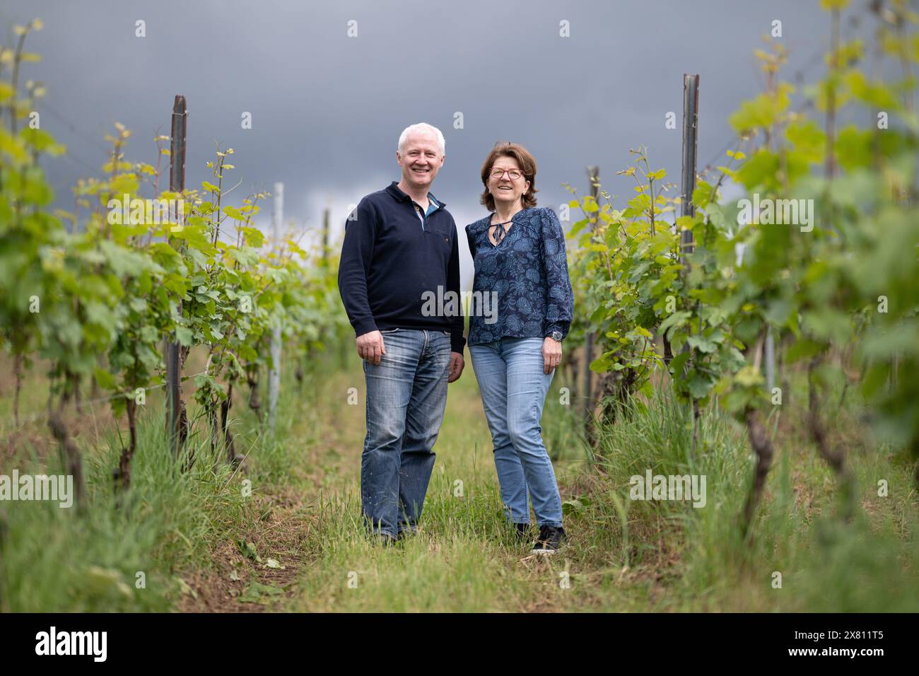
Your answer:
[[[494,467],[507,519],[562,525],[562,498],[539,419],[555,372],[543,372],[542,338],[502,338],[471,345],[472,369],[494,443]]]

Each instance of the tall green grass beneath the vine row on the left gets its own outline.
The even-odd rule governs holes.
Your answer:
[[[235,421],[237,452],[250,453],[245,475],[222,462],[222,449],[214,457],[203,425],[193,426],[187,441],[195,463],[181,471],[184,458],[176,460],[168,450],[162,401],[150,401],[138,420],[128,491],[116,495],[113,490],[121,440],[112,428],[98,445],[82,449],[85,510],[49,501],[0,502],[0,610],[172,608],[184,588],[177,573],[209,567],[214,544],[232,540],[252,521],[252,500],[241,490],[241,479],[252,480],[255,491],[283,483],[292,406],[281,400],[275,438],[267,438],[248,411]],[[64,473],[56,453],[42,461],[31,447],[7,460],[4,472],[9,475],[13,467],[20,475]]]

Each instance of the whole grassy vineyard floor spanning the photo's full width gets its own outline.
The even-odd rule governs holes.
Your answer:
[[[751,465],[735,423],[704,418],[690,455],[689,413],[658,396],[605,428],[601,463],[584,467],[573,432],[577,402],[562,406],[553,383],[543,438],[562,453],[554,465],[573,509],[565,514],[569,545],[537,557],[505,525],[467,367],[449,386],[421,532],[380,548],[361,519],[364,378],[357,355],[349,357],[343,369],[323,355],[302,392],[286,372],[278,438],[236,391],[235,446],[250,453],[236,472],[219,464],[213,474],[201,426],[193,436],[202,459],[195,471],[178,472],[163,453],[162,402],[152,398],[123,505],[111,495],[120,448],[110,416],[96,407],[76,418],[94,499],[81,515],[45,502],[0,504],[0,544],[8,544],[0,591],[10,592],[0,594],[0,610],[915,612],[913,464],[865,438],[858,407],[831,418],[834,444],[846,449],[860,487],[857,519],[832,518],[836,481],[800,441],[804,423],[789,407],[772,426],[777,462],[754,541],[744,544],[735,526]],[[0,469],[39,471],[48,461],[53,469],[46,436],[40,423],[19,430]],[[630,476],[647,469],[707,475],[706,508],[630,500]],[[880,478],[889,496],[879,494]],[[137,571],[146,587],[133,586]],[[782,588],[772,585],[775,571]]]

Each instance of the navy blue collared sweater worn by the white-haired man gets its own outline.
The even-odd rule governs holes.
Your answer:
[[[338,291],[357,336],[389,328],[435,329],[449,332],[454,352],[466,344],[453,216],[438,201],[422,223],[414,201],[395,181],[369,194],[348,216]],[[451,291],[458,299],[455,314],[439,312],[436,301],[436,313],[429,311],[430,303],[423,312],[426,300],[444,299]]]

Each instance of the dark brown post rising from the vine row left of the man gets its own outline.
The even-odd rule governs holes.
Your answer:
[[[181,193],[185,189],[185,146],[188,111],[185,97],[176,94],[173,104],[172,133],[169,142],[169,189]],[[178,216],[179,214],[176,214]],[[182,314],[182,302],[178,304]],[[166,341],[166,429],[169,430],[169,446],[177,456],[181,451],[182,439],[182,363],[179,359],[178,341]]]

